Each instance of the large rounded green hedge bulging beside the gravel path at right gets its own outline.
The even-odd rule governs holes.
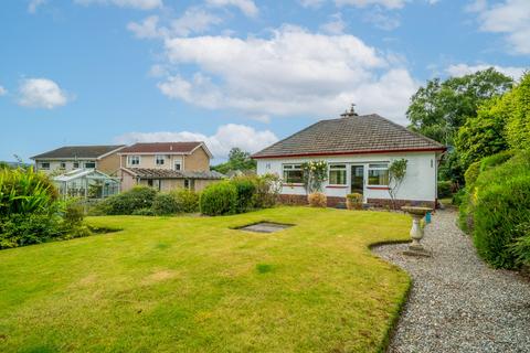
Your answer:
[[[517,267],[510,247],[530,222],[530,152],[480,172],[460,210],[473,220],[478,254],[495,267]]]

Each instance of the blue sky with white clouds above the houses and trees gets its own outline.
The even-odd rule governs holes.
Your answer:
[[[426,79],[530,58],[530,1],[6,0],[0,160],[64,145],[256,151],[352,101],[406,125]]]

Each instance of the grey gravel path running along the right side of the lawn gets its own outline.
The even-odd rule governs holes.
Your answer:
[[[389,352],[530,352],[530,281],[485,265],[455,221],[433,216],[422,242],[431,258],[402,255],[404,244],[373,248],[413,278]]]

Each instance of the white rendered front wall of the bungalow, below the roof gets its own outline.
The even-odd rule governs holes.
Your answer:
[[[392,162],[396,159],[406,159],[406,175],[403,184],[398,191],[398,200],[412,201],[435,201],[436,200],[436,174],[437,160],[435,152],[405,152],[405,153],[373,153],[373,154],[352,154],[333,156],[317,158],[286,158],[286,159],[258,159],[257,174],[276,173],[283,178],[283,164],[301,163],[310,160],[325,160],[328,163],[347,164],[347,185],[346,188],[331,186],[326,183],[325,193],[328,196],[344,197],[350,193],[351,164],[364,165],[364,201],[367,199],[390,199],[388,190],[371,189],[368,185],[368,164],[379,162]],[[303,185],[284,184],[283,194],[305,195]]]

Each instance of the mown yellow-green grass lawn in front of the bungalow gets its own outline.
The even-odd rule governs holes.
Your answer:
[[[231,227],[293,223],[273,234]],[[373,352],[410,286],[385,212],[91,217],[123,231],[0,252],[0,352]]]

